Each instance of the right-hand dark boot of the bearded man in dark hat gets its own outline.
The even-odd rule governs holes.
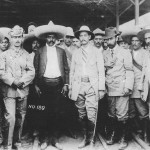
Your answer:
[[[128,134],[128,124],[127,121],[120,122],[121,125],[121,140],[120,140],[120,146],[119,150],[124,150],[128,146],[127,142],[127,134]]]

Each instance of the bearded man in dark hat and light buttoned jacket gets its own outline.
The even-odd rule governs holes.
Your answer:
[[[109,50],[104,51],[106,68],[106,85],[108,91],[108,116],[110,119],[110,136],[107,144],[114,143],[116,123],[120,125],[121,145],[125,148],[128,120],[129,94],[133,88],[134,72],[131,53],[117,45],[118,33],[114,28],[106,28],[104,38]]]

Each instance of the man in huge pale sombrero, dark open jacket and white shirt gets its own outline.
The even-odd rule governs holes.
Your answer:
[[[41,96],[41,101],[45,106],[45,113],[41,119],[42,124],[48,127],[44,127],[44,129],[53,133],[51,144],[58,149],[62,149],[61,145],[56,142],[58,138],[56,133],[60,129],[58,122],[61,112],[60,98],[61,94],[65,95],[68,91],[69,68],[65,51],[55,46],[55,43],[57,39],[63,38],[65,31],[65,27],[54,25],[52,22],[35,29],[35,35],[38,38],[46,39],[46,46],[37,51],[34,60],[36,91]],[[49,140],[45,141],[41,148],[46,148],[48,142]]]

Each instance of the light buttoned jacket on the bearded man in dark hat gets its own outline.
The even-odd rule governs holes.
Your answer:
[[[129,50],[116,45],[112,57],[111,50],[104,51],[106,85],[109,96],[124,96],[124,88],[133,89],[134,72]]]

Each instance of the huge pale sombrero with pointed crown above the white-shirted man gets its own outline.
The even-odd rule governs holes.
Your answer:
[[[46,39],[47,34],[54,33],[58,39],[66,35],[66,27],[62,25],[55,25],[52,21],[48,25],[42,25],[34,30],[35,36],[40,39]]]

